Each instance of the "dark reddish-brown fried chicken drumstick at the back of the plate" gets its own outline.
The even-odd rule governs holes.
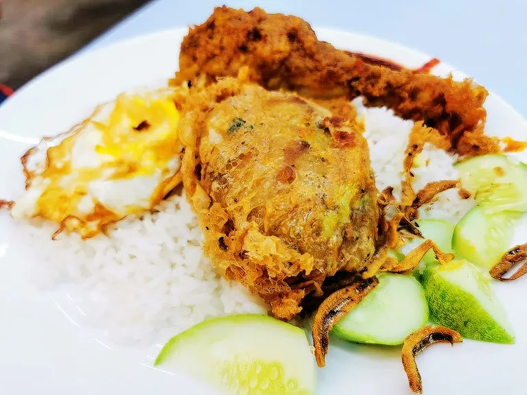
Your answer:
[[[249,67],[250,80],[272,90],[314,98],[362,95],[367,106],[388,106],[400,117],[436,128],[458,154],[500,150],[483,134],[488,93],[482,86],[368,64],[319,41],[302,19],[260,8],[216,8],[205,23],[191,28],[174,83],[192,83],[200,75],[212,82],[236,76],[243,66]]]

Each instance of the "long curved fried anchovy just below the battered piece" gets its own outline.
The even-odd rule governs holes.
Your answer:
[[[315,347],[315,358],[318,366],[325,366],[325,355],[329,346],[329,332],[344,315],[364,299],[379,284],[377,277],[359,278],[349,287],[333,292],[327,297],[315,314],[312,334]]]

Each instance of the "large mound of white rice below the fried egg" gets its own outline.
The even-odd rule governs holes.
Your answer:
[[[127,217],[82,240],[54,226],[28,226],[38,252],[34,278],[65,284],[82,314],[79,324],[102,328],[113,341],[165,342],[204,320],[233,313],[266,313],[242,285],[222,279],[202,254],[202,231],[185,197],[174,195],[154,213]]]

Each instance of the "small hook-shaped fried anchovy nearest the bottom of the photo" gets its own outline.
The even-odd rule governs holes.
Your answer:
[[[434,343],[450,343],[454,346],[454,343],[461,342],[461,335],[452,329],[445,328],[445,326],[432,327],[432,325],[428,325],[408,335],[404,340],[401,359],[404,371],[408,376],[410,389],[419,394],[423,393],[421,374],[419,374],[417,363],[415,363],[415,357],[421,351]]]

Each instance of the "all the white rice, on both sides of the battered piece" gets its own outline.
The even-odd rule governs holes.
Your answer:
[[[377,188],[401,193],[404,150],[412,121],[403,121],[385,108],[366,109],[366,132]],[[421,166],[414,167],[413,186],[457,178],[456,158],[426,146]],[[457,189],[442,193],[421,208],[421,217],[457,222],[473,205]],[[202,254],[202,232],[184,196],[174,195],[154,213],[128,217],[108,231],[82,241],[63,233],[56,241],[55,226],[38,222],[25,226],[30,246],[38,253],[34,278],[40,285],[60,285],[80,311],[75,320],[101,328],[113,340],[163,343],[205,318],[233,313],[266,313],[259,298],[237,283],[220,278]],[[67,310],[67,313],[70,311]]]

